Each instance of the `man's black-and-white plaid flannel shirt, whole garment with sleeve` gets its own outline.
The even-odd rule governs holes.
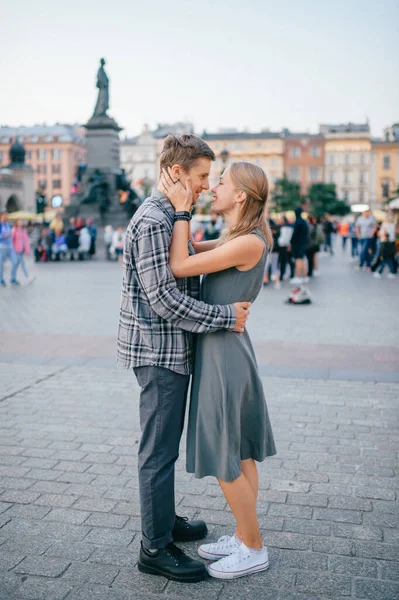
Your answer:
[[[157,365],[188,375],[194,333],[234,329],[232,305],[199,300],[199,277],[175,279],[169,267],[174,210],[158,190],[131,219],[123,252],[117,367]],[[194,248],[189,242],[189,252]]]

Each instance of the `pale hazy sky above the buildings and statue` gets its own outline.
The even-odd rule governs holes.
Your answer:
[[[20,0],[1,9],[0,125],[85,123],[106,59],[109,114],[309,131],[399,121],[399,0]]]

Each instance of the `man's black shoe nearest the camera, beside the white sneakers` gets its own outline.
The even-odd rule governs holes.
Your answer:
[[[202,562],[190,558],[173,543],[156,553],[148,552],[141,544],[137,566],[142,573],[161,575],[184,583],[195,583],[208,577],[208,571]]]

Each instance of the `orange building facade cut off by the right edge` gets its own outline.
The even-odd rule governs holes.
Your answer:
[[[398,194],[399,123],[384,130],[381,139],[373,139],[371,151],[370,204],[381,208]]]

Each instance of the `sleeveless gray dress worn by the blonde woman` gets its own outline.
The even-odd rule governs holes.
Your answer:
[[[266,241],[260,261],[249,271],[235,267],[205,275],[201,300],[208,304],[254,302],[267,260]],[[276,454],[262,382],[248,332],[223,329],[196,336],[187,430],[187,471],[201,478],[233,481],[241,460],[260,462]]]

